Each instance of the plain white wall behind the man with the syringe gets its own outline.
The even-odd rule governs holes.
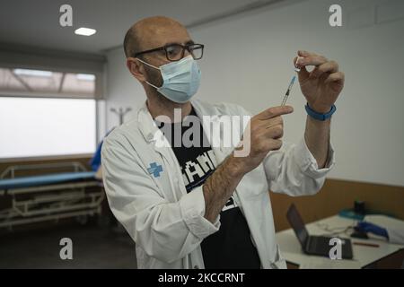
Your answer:
[[[342,5],[343,27],[329,26],[330,4]],[[338,162],[330,178],[404,186],[403,8],[400,0],[294,1],[190,30],[206,45],[196,97],[258,113],[281,102],[297,49],[335,59],[347,83],[332,121]],[[108,106],[142,104],[144,91],[128,74],[122,50],[110,51],[108,62]],[[303,136],[304,103],[294,86],[287,141]],[[108,117],[115,125],[116,117]]]

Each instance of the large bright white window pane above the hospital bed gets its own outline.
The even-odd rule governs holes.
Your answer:
[[[0,97],[0,159],[92,153],[96,102]]]

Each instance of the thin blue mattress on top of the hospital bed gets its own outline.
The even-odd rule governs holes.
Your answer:
[[[0,179],[0,189],[13,189],[19,187],[38,187],[56,183],[94,178],[95,171],[66,172],[49,174],[45,176]]]

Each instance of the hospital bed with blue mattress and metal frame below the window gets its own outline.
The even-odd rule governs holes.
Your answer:
[[[17,177],[19,173],[35,176]],[[14,165],[0,175],[0,228],[101,214],[104,192],[80,162]]]

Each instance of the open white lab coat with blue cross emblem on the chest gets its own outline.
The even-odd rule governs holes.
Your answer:
[[[215,115],[213,125],[221,126],[223,115],[248,115],[233,104],[191,103],[198,117]],[[105,139],[101,161],[111,211],[136,242],[138,268],[204,268],[200,243],[219,230],[220,215],[214,224],[205,219],[202,187],[187,193],[172,149],[154,144],[156,132],[159,129],[144,105],[135,119]],[[213,147],[213,152],[220,163],[232,148]],[[284,143],[237,186],[234,200],[249,224],[262,268],[286,267],[275,239],[268,190],[290,196],[317,193],[334,164],[333,153],[330,147],[327,168],[318,170],[303,139],[296,145]],[[159,177],[147,170],[152,162],[162,166]]]

